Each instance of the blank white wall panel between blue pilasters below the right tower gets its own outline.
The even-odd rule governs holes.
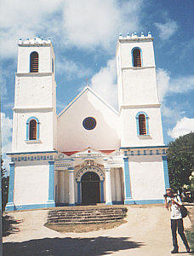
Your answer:
[[[165,184],[162,156],[131,156],[129,172],[134,201],[163,199]]]

